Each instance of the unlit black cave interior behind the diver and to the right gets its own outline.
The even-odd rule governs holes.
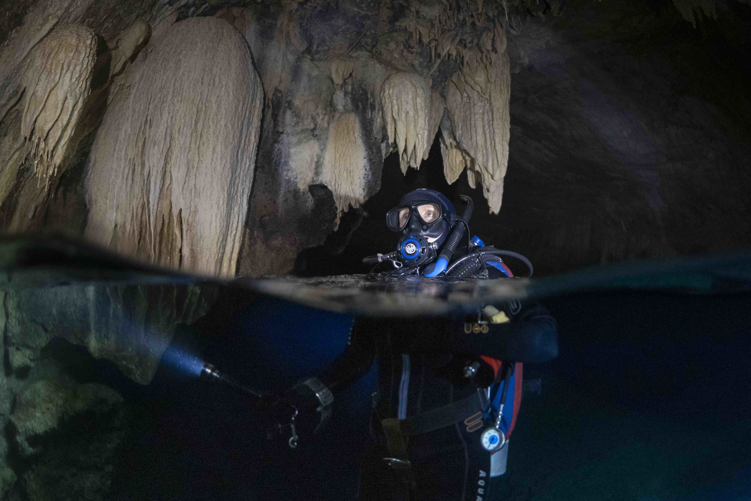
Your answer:
[[[402,176],[397,155],[386,158],[379,192],[344,213],[322,246],[300,252],[293,273],[366,273],[360,256],[390,251],[397,240],[383,215],[421,187],[455,205],[457,195],[471,196],[473,234],[527,255],[538,276],[748,246],[747,9],[724,5],[727,24],[696,28],[677,23],[667,3],[569,9],[577,15],[557,24],[555,44],[511,60],[509,166],[498,216],[479,186],[469,188],[466,172],[446,183],[436,137],[419,171]]]

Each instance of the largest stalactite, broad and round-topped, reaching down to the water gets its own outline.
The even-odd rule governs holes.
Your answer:
[[[263,90],[224,20],[171,26],[110,104],[89,158],[86,237],[154,264],[231,276]],[[217,92],[222,89],[222,92]]]

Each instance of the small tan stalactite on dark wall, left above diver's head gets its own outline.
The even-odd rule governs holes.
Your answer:
[[[339,113],[329,125],[321,181],[333,192],[336,210],[360,207],[366,201],[365,146],[355,113]]]

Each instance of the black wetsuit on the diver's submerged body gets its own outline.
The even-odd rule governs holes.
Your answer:
[[[383,460],[394,454],[382,427],[385,418],[411,418],[476,396],[478,388],[487,387],[494,377],[484,363],[477,377],[464,377],[463,368],[480,361],[480,355],[522,362],[547,361],[557,355],[556,321],[544,308],[522,304],[519,309],[518,303],[496,306],[511,321],[490,325],[487,333],[466,333],[466,318],[355,321],[345,352],[320,378],[336,393],[336,388],[371,367],[374,358],[378,364],[373,443],[363,457],[358,499],[499,499],[496,480],[490,479],[490,453],[480,443],[487,423],[469,431],[460,420],[407,437],[409,478]]]

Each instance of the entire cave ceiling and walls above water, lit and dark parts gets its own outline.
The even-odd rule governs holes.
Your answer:
[[[737,2],[3,9],[5,231],[289,273],[379,193],[393,153],[408,179],[439,170],[484,198],[479,227],[519,233],[550,271],[749,237]]]

